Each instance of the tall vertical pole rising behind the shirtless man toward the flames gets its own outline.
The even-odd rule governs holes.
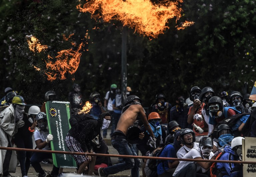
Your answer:
[[[122,94],[123,99],[126,98],[127,86],[127,56],[126,56],[126,43],[127,43],[127,27],[123,27],[122,31]]]

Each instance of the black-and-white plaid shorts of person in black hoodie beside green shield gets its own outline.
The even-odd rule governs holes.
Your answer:
[[[75,138],[70,136],[69,133],[66,136],[65,142],[70,152],[84,152],[80,143]],[[74,157],[76,163],[79,165],[87,160],[85,155],[72,154],[72,156]]]

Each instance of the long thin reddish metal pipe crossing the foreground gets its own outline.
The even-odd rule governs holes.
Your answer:
[[[232,161],[232,160],[207,160],[207,159],[178,159],[169,157],[148,157],[148,156],[132,156],[132,155],[116,155],[116,154],[96,154],[96,153],[82,153],[82,152],[69,152],[69,151],[51,151],[40,149],[25,149],[25,148],[13,148],[13,147],[1,147],[3,150],[11,151],[29,151],[29,152],[44,152],[55,154],[71,154],[71,155],[89,155],[89,156],[104,156],[104,157],[121,157],[130,159],[158,159],[158,160],[173,160],[173,161],[192,161],[192,162],[220,162],[220,163],[240,163],[240,164],[256,164],[256,162],[250,161]]]

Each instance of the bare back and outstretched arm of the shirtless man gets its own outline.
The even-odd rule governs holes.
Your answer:
[[[134,124],[135,120],[137,119],[137,116],[140,116],[144,126],[146,128],[149,127],[150,131],[152,132],[148,124],[146,114],[144,113],[144,109],[140,104],[130,105],[129,108],[127,108],[127,110],[123,112],[117,123],[116,130],[120,130],[126,135],[128,128]],[[153,135],[153,132],[151,135]]]

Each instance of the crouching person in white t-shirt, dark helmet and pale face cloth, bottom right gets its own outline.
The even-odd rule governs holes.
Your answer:
[[[216,156],[212,152],[213,141],[210,137],[204,136],[199,142],[199,147],[191,149],[183,156],[183,159],[211,159]],[[174,177],[207,177],[211,162],[180,161],[173,176]],[[201,171],[202,170],[202,171]]]

